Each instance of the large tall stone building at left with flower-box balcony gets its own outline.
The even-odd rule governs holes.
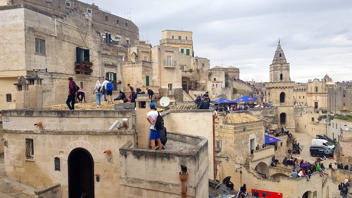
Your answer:
[[[11,85],[33,70],[43,79],[44,105],[64,103],[68,77],[86,91],[93,91],[103,76],[124,81],[127,47],[139,44],[132,21],[76,0],[13,0],[0,6],[0,21],[6,38],[0,40],[6,49],[0,55],[0,109],[15,108]],[[117,84],[114,88],[120,89]],[[87,94],[88,100],[93,98]]]

